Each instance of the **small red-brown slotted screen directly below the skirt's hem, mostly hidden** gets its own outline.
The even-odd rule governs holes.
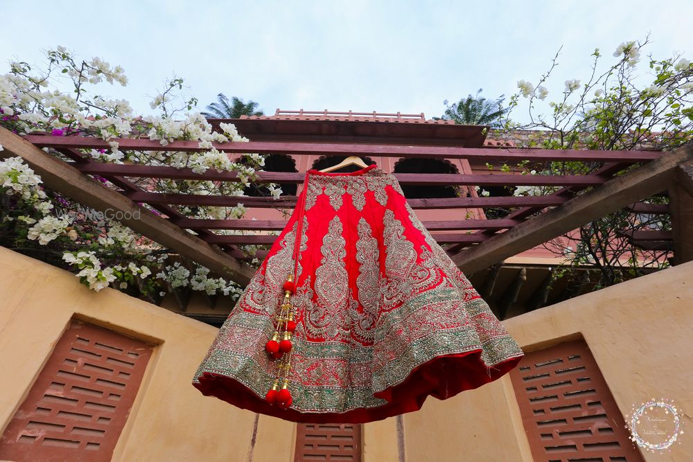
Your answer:
[[[299,423],[295,462],[361,461],[361,425]]]

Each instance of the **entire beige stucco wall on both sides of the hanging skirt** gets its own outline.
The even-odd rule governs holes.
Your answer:
[[[21,404],[71,317],[158,345],[116,446],[115,461],[289,462],[295,425],[206,398],[191,377],[216,329],[115,290],[95,293],[72,274],[0,247],[0,427]],[[693,263],[504,321],[525,350],[581,335],[617,405],[669,398],[693,416]],[[11,374],[8,373],[11,371]],[[9,379],[5,377],[10,377]],[[648,462],[690,461],[681,445]],[[252,445],[255,434],[255,444]],[[532,457],[509,377],[363,428],[365,462],[523,461]]]

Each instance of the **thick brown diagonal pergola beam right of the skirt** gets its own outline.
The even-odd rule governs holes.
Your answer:
[[[693,158],[693,147],[685,146],[607,181],[565,204],[495,234],[475,247],[460,251],[453,261],[467,274],[473,274],[505,258],[597,220],[608,213],[666,190],[679,164]]]

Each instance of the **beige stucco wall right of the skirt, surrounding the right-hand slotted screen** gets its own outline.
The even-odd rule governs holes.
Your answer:
[[[667,398],[693,416],[693,262],[504,321],[525,351],[581,335],[622,413]],[[690,462],[693,422],[671,452],[647,462]],[[531,462],[509,377],[405,414],[407,462]]]

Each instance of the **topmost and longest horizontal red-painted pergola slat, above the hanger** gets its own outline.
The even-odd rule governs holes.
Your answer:
[[[83,136],[25,135],[40,148],[109,149],[106,141]],[[112,139],[120,150],[200,151],[197,141],[174,141],[162,146],[150,139]],[[663,155],[659,151],[550,150],[520,148],[458,148],[455,146],[412,146],[355,143],[296,143],[288,141],[250,141],[214,143],[223,152],[259,154],[312,154],[317,156],[426,157],[430,159],[479,159],[480,161],[588,161],[626,163],[647,162]]]

